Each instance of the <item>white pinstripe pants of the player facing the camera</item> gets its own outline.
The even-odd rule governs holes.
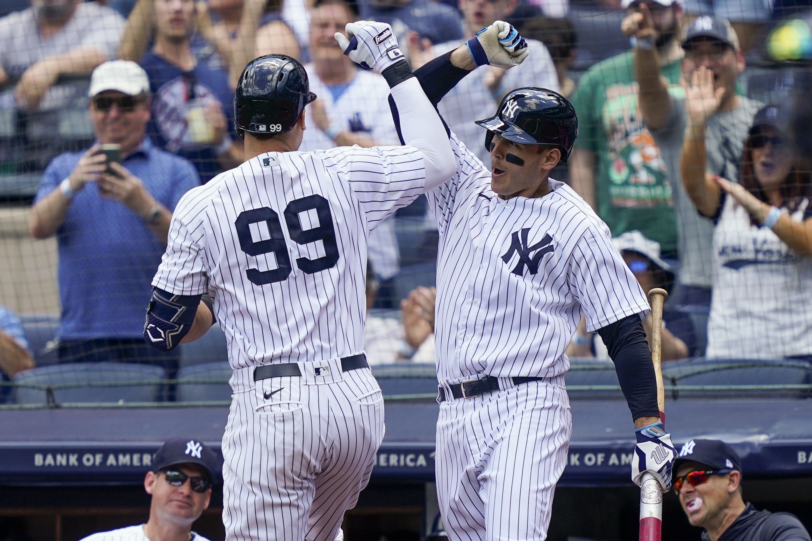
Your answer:
[[[572,434],[564,376],[499,386],[440,404],[437,492],[451,541],[546,539]]]

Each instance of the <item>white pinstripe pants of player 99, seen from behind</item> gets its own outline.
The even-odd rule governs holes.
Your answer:
[[[314,368],[327,376],[315,376]],[[227,541],[332,541],[369,482],[383,397],[369,368],[299,363],[303,376],[253,382],[236,370],[222,437]]]

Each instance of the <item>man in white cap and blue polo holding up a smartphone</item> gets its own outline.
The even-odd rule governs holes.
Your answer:
[[[172,210],[200,178],[145,135],[149,79],[138,64],[103,63],[89,95],[96,143],[50,162],[28,217],[33,237],[58,236],[59,362],[149,363],[172,377],[177,354],[153,350],[141,336],[143,304]]]

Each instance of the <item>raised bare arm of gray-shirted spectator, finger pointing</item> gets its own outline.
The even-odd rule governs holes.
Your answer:
[[[621,29],[629,37],[637,38],[634,48],[634,77],[640,85],[640,113],[643,122],[652,130],[665,126],[671,113],[671,97],[667,80],[660,75],[659,54],[654,47],[656,30],[646,2],[639,2],[639,11],[624,19]]]

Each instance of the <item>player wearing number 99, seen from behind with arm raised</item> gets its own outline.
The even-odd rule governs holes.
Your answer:
[[[340,531],[383,437],[363,352],[369,232],[456,167],[391,28],[360,21],[347,34],[336,39],[350,58],[387,79],[404,146],[297,152],[315,99],[307,74],[282,55],[253,60],[235,97],[247,161],[180,200],[153,281],[150,344],[171,350],[215,317],[227,335],[229,541]],[[481,39],[499,48],[495,30]]]

